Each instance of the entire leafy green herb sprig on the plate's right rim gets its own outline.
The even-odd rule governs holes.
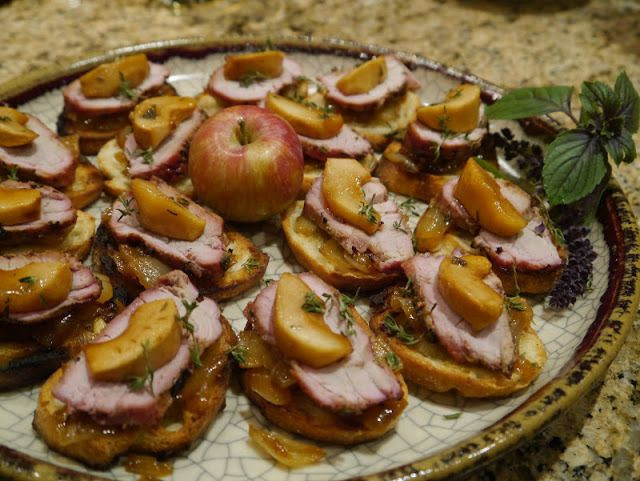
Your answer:
[[[488,118],[520,119],[563,112],[575,128],[562,132],[548,145],[542,182],[552,206],[573,204],[595,192],[598,201],[615,164],[636,158],[631,138],[638,131],[640,98],[625,72],[611,88],[602,82],[583,82],[580,117],[571,109],[572,87],[516,89],[488,107]],[[597,207],[593,203],[591,209]]]

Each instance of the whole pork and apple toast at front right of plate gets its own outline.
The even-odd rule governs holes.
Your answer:
[[[546,362],[522,297],[505,297],[482,256],[418,254],[402,265],[405,287],[389,288],[371,320],[402,360],[403,375],[432,391],[507,396]]]

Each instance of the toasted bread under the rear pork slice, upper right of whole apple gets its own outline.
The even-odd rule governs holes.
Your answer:
[[[401,135],[416,119],[420,98],[407,90],[403,95],[386,102],[374,113],[343,112],[345,122],[367,139],[374,149],[382,150],[396,136]]]

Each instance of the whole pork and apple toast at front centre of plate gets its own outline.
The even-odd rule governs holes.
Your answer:
[[[269,421],[337,444],[377,439],[395,426],[407,387],[351,298],[311,273],[286,273],[244,312],[234,353],[246,395]]]

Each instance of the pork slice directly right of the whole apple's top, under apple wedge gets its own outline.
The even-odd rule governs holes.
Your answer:
[[[343,125],[338,135],[330,139],[312,139],[298,135],[302,151],[307,157],[326,161],[329,157],[359,159],[372,152],[371,144],[348,125]]]

